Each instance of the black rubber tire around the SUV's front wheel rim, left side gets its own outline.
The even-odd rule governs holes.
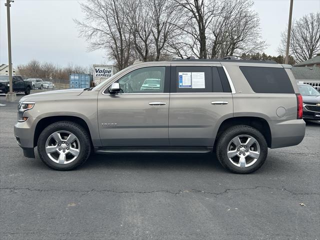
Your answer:
[[[80,150],[78,156],[66,164],[59,164],[50,159],[46,154],[45,144],[47,138],[55,131],[69,131],[74,134],[80,144]],[[58,121],[54,122],[43,129],[40,133],[37,141],[37,149],[41,160],[52,169],[55,170],[72,170],[80,165],[82,165],[91,153],[91,140],[89,133],[79,124],[70,121]]]

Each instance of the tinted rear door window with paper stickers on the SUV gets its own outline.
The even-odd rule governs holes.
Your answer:
[[[171,92],[231,92],[222,67],[172,66],[172,73]]]

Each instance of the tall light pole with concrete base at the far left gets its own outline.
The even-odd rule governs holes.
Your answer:
[[[7,31],[8,31],[8,60],[9,60],[9,92],[6,94],[7,101],[14,101],[16,98],[15,93],[12,89],[12,60],[11,60],[11,29],[10,29],[10,2],[13,0],[6,0],[4,5],[6,6],[6,22],[7,22]]]

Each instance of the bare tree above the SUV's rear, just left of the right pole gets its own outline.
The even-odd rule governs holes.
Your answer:
[[[261,52],[266,47],[265,41],[260,40],[259,17],[252,5],[252,0],[224,2],[223,12],[208,27],[211,58]]]

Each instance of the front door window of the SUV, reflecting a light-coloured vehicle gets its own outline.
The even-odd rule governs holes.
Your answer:
[[[117,82],[123,93],[161,93],[164,88],[165,66],[135,69]]]

